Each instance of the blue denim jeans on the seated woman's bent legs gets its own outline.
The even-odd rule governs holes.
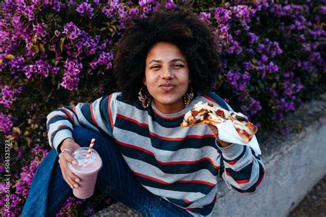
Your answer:
[[[105,200],[109,196],[143,216],[191,216],[186,210],[142,187],[120,154],[118,144],[111,137],[82,127],[74,127],[73,137],[82,147],[89,146],[91,138],[96,139],[94,149],[103,161],[96,181],[96,187],[102,193],[93,195],[96,199]],[[21,216],[56,216],[63,203],[72,195],[72,189],[63,180],[58,155],[52,149],[34,174]]]

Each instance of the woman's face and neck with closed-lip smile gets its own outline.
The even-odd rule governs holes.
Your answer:
[[[146,57],[144,85],[162,113],[176,113],[184,108],[183,95],[189,84],[186,58],[172,43],[156,43]]]

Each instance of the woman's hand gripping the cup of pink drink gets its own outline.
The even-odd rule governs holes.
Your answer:
[[[60,151],[67,149],[65,150],[65,152],[63,153],[61,152],[59,154],[59,161],[58,161],[58,163],[60,164],[61,172],[63,174],[63,179],[71,188],[74,187],[78,188],[79,187],[78,183],[80,182],[80,179],[78,178],[78,176],[76,176],[76,174],[74,174],[68,169],[68,162],[77,165],[77,161],[76,159],[74,159],[74,157],[72,157],[71,152],[73,150],[76,150],[77,148],[80,148],[80,146],[76,144],[74,139],[67,138],[62,141],[61,146],[59,146],[59,148]]]

